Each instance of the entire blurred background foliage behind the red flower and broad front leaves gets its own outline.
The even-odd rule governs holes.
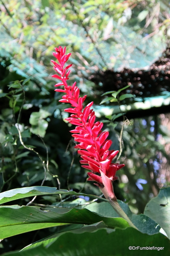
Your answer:
[[[0,0],[0,31],[0,191],[46,185],[100,195],[86,182],[64,121],[67,106],[54,92],[50,60],[61,45],[72,53],[69,84],[78,83],[86,104],[94,101],[110,149],[121,145],[118,162],[126,166],[118,171],[115,194],[143,213],[159,188],[170,185],[168,1]],[[119,96],[131,98],[101,96],[127,85]],[[62,206],[65,199],[44,196],[33,204]],[[43,232],[31,232],[29,242]],[[2,251],[25,246],[17,237],[4,240]]]

